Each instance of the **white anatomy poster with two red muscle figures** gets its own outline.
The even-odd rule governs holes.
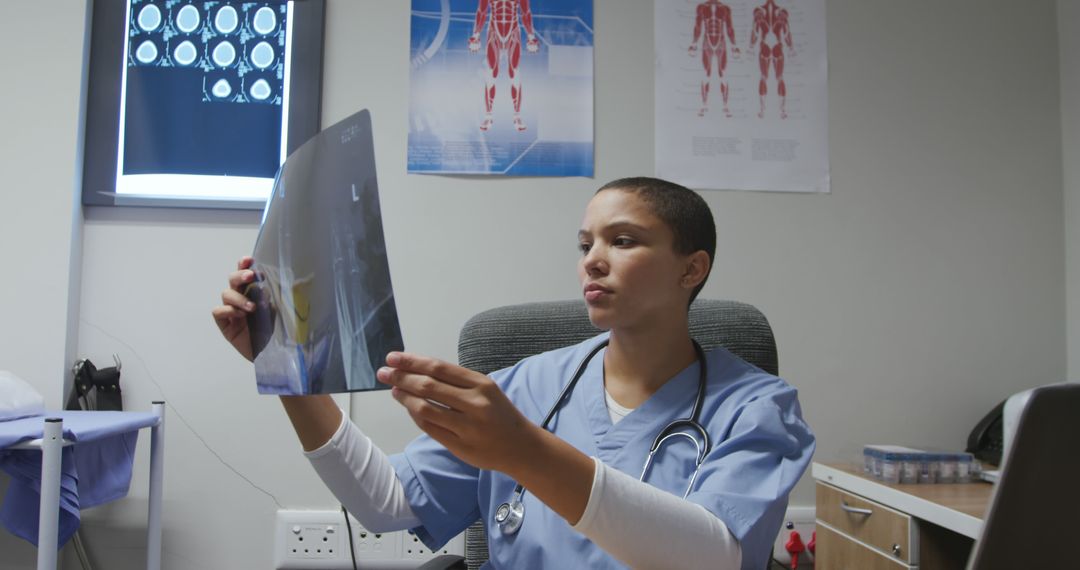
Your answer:
[[[657,175],[828,192],[825,0],[656,1]]]

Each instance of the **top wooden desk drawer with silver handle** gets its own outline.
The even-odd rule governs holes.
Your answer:
[[[917,564],[916,528],[908,515],[819,483],[818,518],[896,560]]]

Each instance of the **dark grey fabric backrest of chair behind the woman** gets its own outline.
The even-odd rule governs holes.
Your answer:
[[[577,344],[599,332],[589,322],[584,301],[500,307],[473,316],[461,328],[458,363],[490,374],[526,356]],[[698,299],[690,307],[690,336],[706,351],[724,347],[754,366],[778,374],[772,328],[753,306]],[[484,522],[480,520],[465,531],[465,562],[470,569],[487,560]]]

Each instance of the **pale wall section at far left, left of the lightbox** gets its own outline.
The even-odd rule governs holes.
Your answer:
[[[59,407],[76,354],[86,6],[5,2],[0,17],[0,369]],[[0,395],[2,397],[2,395]],[[0,473],[0,491],[8,477]],[[0,532],[3,564],[35,551]],[[29,568],[31,566],[27,566]]]

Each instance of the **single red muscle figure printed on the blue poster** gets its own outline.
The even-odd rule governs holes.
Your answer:
[[[521,15],[518,15],[521,14]],[[529,0],[480,0],[476,6],[476,22],[473,25],[473,32],[469,37],[469,51],[480,52],[480,35],[487,21],[487,42],[485,49],[487,77],[484,81],[484,120],[480,124],[481,131],[491,128],[494,120],[491,110],[495,106],[495,82],[499,77],[499,64],[503,56],[507,62],[507,74],[510,78],[510,98],[514,105],[514,128],[525,131],[527,127],[522,121],[522,77],[517,67],[522,58],[522,30],[525,26],[526,41],[525,51],[537,53],[540,51],[540,40],[532,28],[532,12],[529,10]]]

